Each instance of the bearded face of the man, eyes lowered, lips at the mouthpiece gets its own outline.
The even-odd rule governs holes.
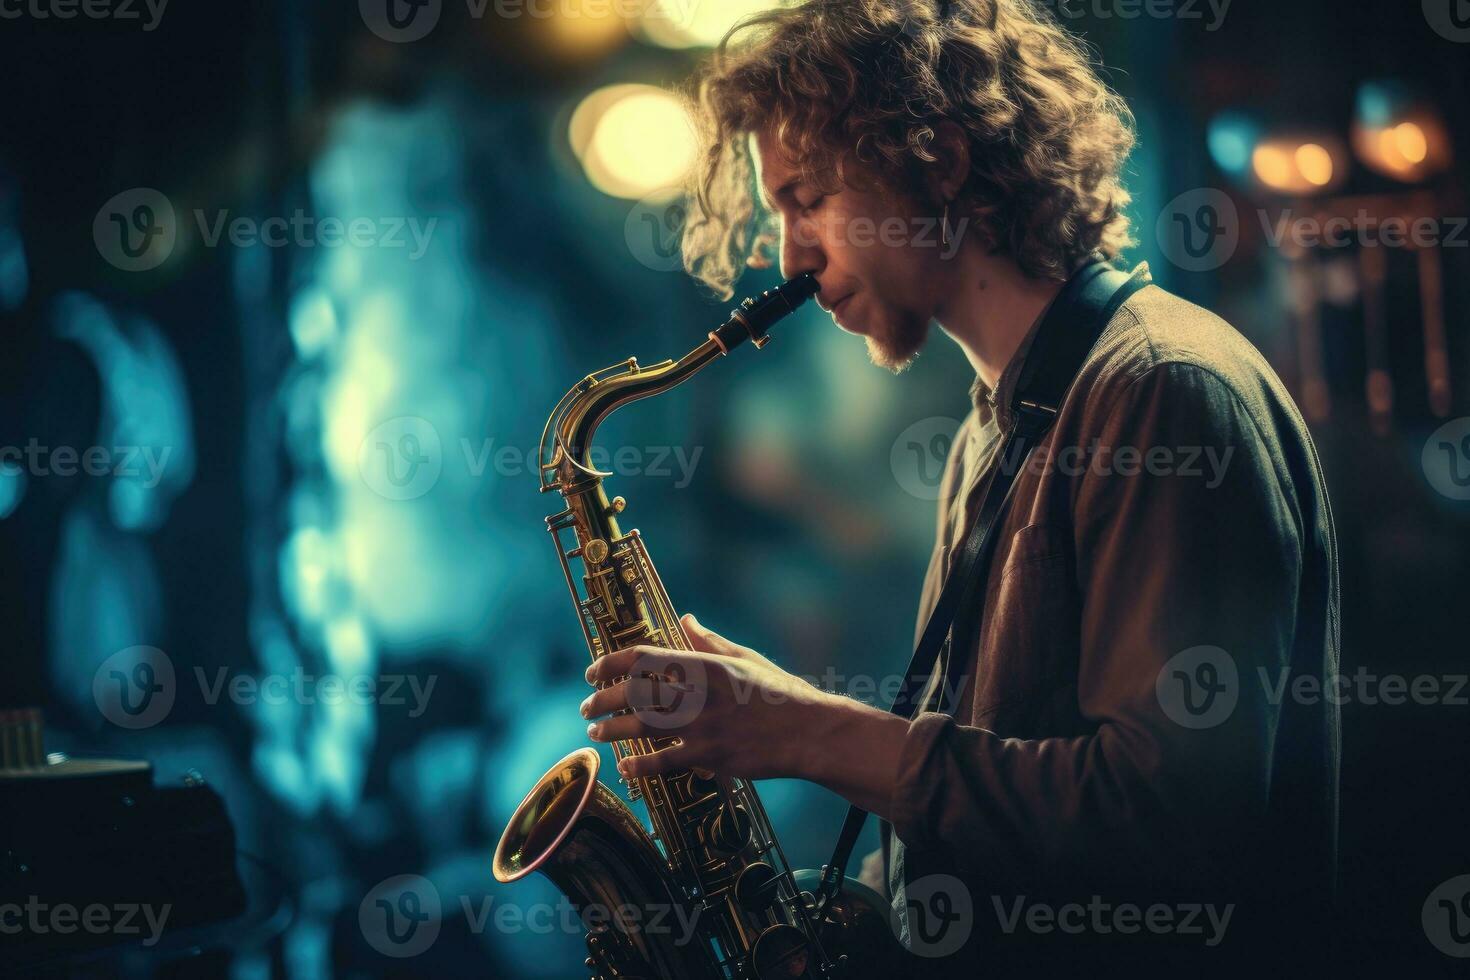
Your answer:
[[[751,140],[761,197],[781,219],[781,275],[816,275],[817,303],[867,339],[872,361],[907,367],[929,335],[938,260],[951,251],[939,245],[938,215],[881,188],[823,195],[792,184],[797,172],[769,131]]]

